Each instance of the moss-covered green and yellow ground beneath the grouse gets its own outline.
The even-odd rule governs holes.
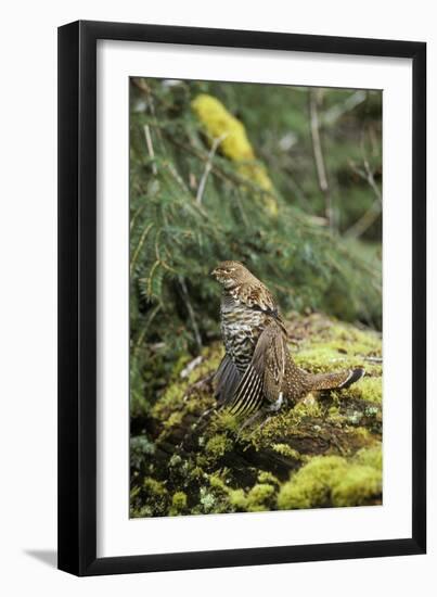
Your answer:
[[[381,334],[320,314],[290,316],[287,331],[299,367],[365,377],[239,434],[226,411],[196,425],[215,403],[222,344],[178,363],[131,437],[132,518],[382,504]]]

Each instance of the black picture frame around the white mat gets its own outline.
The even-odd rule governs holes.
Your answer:
[[[97,41],[413,62],[412,534],[356,543],[97,557]],[[59,29],[59,568],[77,575],[425,554],[426,43],[79,21]]]

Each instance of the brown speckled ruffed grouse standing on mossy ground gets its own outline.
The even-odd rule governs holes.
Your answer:
[[[222,284],[221,332],[226,355],[215,376],[218,406],[249,421],[293,406],[314,390],[348,388],[363,369],[312,374],[295,365],[286,330],[268,288],[240,262],[211,272]]]

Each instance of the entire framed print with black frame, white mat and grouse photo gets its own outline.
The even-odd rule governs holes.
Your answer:
[[[426,46],[59,29],[59,567],[425,552]]]

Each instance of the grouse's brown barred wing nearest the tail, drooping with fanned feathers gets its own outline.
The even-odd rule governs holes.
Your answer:
[[[250,365],[230,402],[234,415],[250,415],[264,402],[275,403],[285,374],[287,346],[282,328],[272,321],[260,334]]]

